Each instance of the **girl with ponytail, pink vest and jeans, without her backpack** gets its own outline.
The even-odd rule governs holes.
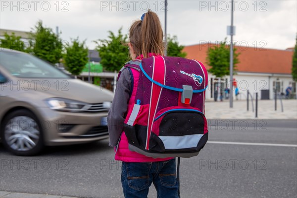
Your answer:
[[[163,55],[163,31],[156,13],[148,10],[135,21],[129,31],[131,59],[141,61],[153,55]],[[158,198],[178,198],[175,158],[153,158],[130,151],[123,125],[129,108],[133,108],[133,89],[139,72],[128,68],[121,72],[107,121],[110,143],[116,150],[115,160],[122,161],[121,181],[125,198],[147,198],[153,183]]]

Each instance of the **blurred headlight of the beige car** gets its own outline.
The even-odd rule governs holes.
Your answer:
[[[49,108],[60,110],[60,111],[70,111],[70,112],[80,112],[85,111],[87,103],[72,100],[72,99],[48,99],[46,100]]]

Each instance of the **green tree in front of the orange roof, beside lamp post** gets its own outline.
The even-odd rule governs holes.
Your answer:
[[[227,46],[226,39],[220,43],[219,46],[214,46],[208,49],[206,63],[211,66],[208,70],[216,77],[223,77],[230,74],[230,46]],[[240,53],[236,53],[233,50],[233,70],[236,70],[236,66],[239,63],[238,56]]]

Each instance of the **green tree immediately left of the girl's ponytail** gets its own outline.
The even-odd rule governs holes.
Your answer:
[[[119,71],[128,60],[129,49],[128,46],[123,45],[127,43],[128,37],[122,34],[122,28],[118,30],[118,35],[111,31],[108,33],[108,40],[95,41],[101,58],[100,63],[107,71]]]

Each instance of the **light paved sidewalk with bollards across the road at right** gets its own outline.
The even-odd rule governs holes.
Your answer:
[[[284,99],[282,112],[281,101],[277,100],[277,111],[275,111],[274,100],[258,100],[258,117],[252,112],[252,104],[249,101],[247,111],[247,100],[234,100],[233,108],[229,107],[229,100],[205,101],[205,116],[207,119],[297,119],[297,100]],[[255,103],[253,104],[255,108]]]

